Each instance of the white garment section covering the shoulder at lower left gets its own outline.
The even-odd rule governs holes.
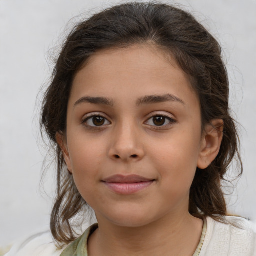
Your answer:
[[[63,249],[58,249],[51,233],[41,232],[15,243],[5,256],[59,256]]]

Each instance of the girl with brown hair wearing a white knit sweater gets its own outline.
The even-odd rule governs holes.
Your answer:
[[[255,255],[221,180],[238,152],[214,37],[189,13],[126,3],[79,23],[45,93],[56,152],[51,233],[6,255]],[[97,223],[78,236],[87,205]]]

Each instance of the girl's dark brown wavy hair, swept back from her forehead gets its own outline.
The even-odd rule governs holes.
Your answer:
[[[212,119],[224,121],[220,151],[206,170],[197,168],[190,188],[189,212],[223,221],[226,204],[221,180],[238,152],[239,138],[228,107],[228,77],[221,47],[194,17],[171,5],[126,3],[116,5],[77,24],[63,44],[51,83],[42,103],[41,130],[53,143],[57,159],[57,193],[51,213],[51,232],[60,243],[75,239],[71,220],[86,202],[68,174],[56,133],[65,133],[66,111],[77,70],[96,51],[153,43],[169,52],[190,77],[200,100],[202,127]]]

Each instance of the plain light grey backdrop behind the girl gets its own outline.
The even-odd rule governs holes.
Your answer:
[[[117,2],[0,0],[0,245],[49,227],[54,171],[48,171],[39,189],[46,151],[38,139],[36,104],[50,74],[48,51],[61,42],[60,34],[70,18]],[[228,208],[255,221],[256,0],[177,2],[192,11],[224,49],[230,101],[243,125],[244,162],[244,175],[227,198]]]

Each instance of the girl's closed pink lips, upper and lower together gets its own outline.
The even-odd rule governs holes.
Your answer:
[[[105,178],[102,182],[113,192],[118,194],[133,194],[149,187],[155,179],[139,175],[113,175]]]

